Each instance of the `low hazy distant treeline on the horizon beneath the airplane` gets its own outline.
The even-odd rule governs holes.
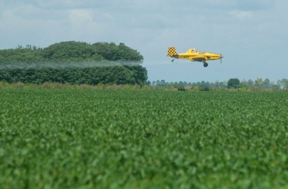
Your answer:
[[[200,87],[200,88],[247,88],[247,89],[252,89],[252,88],[258,88],[258,89],[288,89],[288,79],[283,78],[281,80],[278,80],[277,82],[270,82],[268,78],[262,80],[262,78],[257,78],[255,81],[249,79],[249,80],[242,80],[241,82],[239,81],[238,78],[231,78],[229,79],[228,82],[223,81],[223,82],[166,82],[165,80],[157,80],[147,82],[147,85],[152,85],[152,86],[174,86],[174,87],[186,87],[186,86],[191,86],[191,87]]]

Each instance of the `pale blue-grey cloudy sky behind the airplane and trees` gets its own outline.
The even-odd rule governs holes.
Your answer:
[[[0,49],[61,41],[125,43],[150,81],[288,78],[287,0],[0,0]],[[190,48],[222,53],[202,62],[167,57]]]

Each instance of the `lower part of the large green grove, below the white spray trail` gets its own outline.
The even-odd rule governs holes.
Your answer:
[[[59,82],[97,85],[99,83],[139,84],[146,79],[146,69],[141,66],[109,66],[88,68],[27,68],[0,70],[0,78],[9,83]]]

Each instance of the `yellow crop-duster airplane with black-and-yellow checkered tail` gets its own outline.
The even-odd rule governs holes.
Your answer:
[[[168,47],[167,56],[170,56],[174,59],[179,58],[179,59],[191,60],[192,62],[194,61],[203,62],[204,67],[208,66],[207,60],[221,59],[221,63],[222,63],[222,58],[223,58],[222,54],[200,52],[200,51],[197,51],[195,48],[189,49],[186,53],[178,54],[174,46]],[[172,60],[172,62],[174,61],[174,59]]]

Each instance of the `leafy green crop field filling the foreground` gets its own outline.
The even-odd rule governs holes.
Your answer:
[[[0,89],[0,188],[288,187],[288,93]]]

